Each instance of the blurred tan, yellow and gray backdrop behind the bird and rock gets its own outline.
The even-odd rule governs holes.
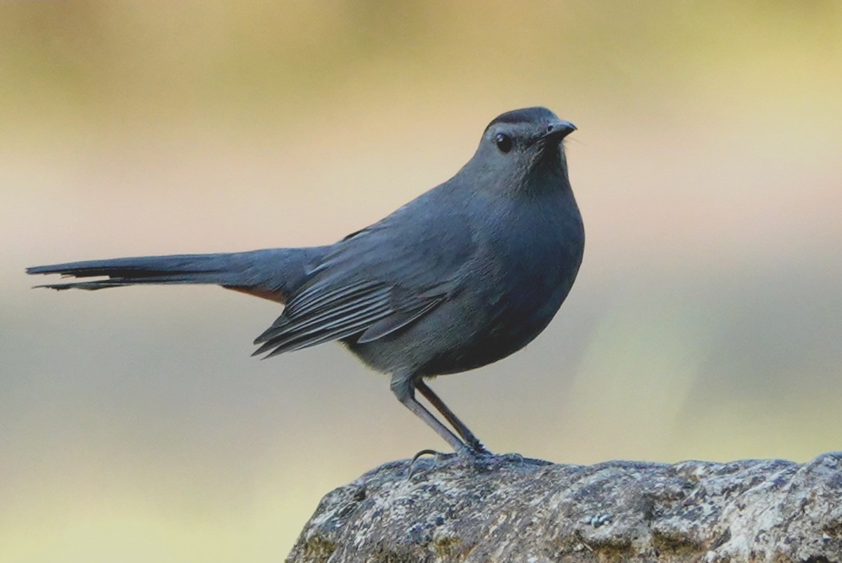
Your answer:
[[[444,442],[280,306],[27,265],[323,244],[546,105],[588,233],[524,351],[433,383],[558,463],[842,448],[842,4],[0,4],[0,561],[279,561]]]

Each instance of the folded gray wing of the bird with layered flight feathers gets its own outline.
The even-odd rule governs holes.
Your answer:
[[[422,201],[335,244],[280,318],[254,340],[262,345],[254,355],[354,335],[358,342],[377,340],[457,291],[459,271],[474,253],[470,223],[455,209]]]

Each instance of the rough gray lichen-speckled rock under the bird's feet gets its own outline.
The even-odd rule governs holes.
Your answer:
[[[550,464],[422,458],[328,493],[288,561],[839,563],[842,452]]]

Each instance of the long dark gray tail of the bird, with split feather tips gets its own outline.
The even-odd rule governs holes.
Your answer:
[[[329,247],[264,249],[210,255],[141,256],[39,265],[28,274],[103,277],[90,281],[49,283],[51,289],[105,289],[139,284],[211,284],[284,303]]]

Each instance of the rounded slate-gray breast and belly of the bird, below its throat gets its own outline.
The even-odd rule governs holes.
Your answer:
[[[480,249],[444,303],[379,340],[345,344],[376,370],[423,376],[482,367],[526,346],[567,298],[584,252],[572,194],[530,203],[501,212],[494,201],[474,226]]]

